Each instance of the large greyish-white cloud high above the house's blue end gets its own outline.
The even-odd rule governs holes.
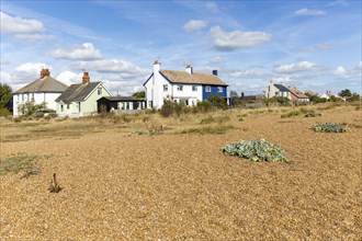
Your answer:
[[[264,32],[225,32],[220,26],[213,26],[210,35],[218,50],[235,50],[238,48],[252,47],[271,39],[271,34]]]

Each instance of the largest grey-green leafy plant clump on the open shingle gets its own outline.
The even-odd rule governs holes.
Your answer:
[[[282,148],[265,141],[264,139],[228,144],[223,147],[222,150],[224,153],[238,156],[254,162],[287,162],[285,151]]]

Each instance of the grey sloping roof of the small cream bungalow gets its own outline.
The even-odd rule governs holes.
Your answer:
[[[100,82],[89,82],[87,84],[78,83],[71,84],[59,97],[57,97],[56,102],[64,102],[69,104],[71,102],[81,102],[84,101],[86,97],[98,87]]]

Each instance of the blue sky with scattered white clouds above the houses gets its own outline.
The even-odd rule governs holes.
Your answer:
[[[360,0],[1,0],[1,83],[13,91],[42,68],[66,83],[83,71],[116,95],[161,69],[212,73],[239,95],[270,81],[319,94],[361,94]]]

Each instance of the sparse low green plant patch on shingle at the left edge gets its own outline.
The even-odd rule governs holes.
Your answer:
[[[11,156],[1,160],[0,164],[0,175],[4,175],[9,172],[19,173],[21,170],[33,168],[33,161],[36,156],[20,153]]]

